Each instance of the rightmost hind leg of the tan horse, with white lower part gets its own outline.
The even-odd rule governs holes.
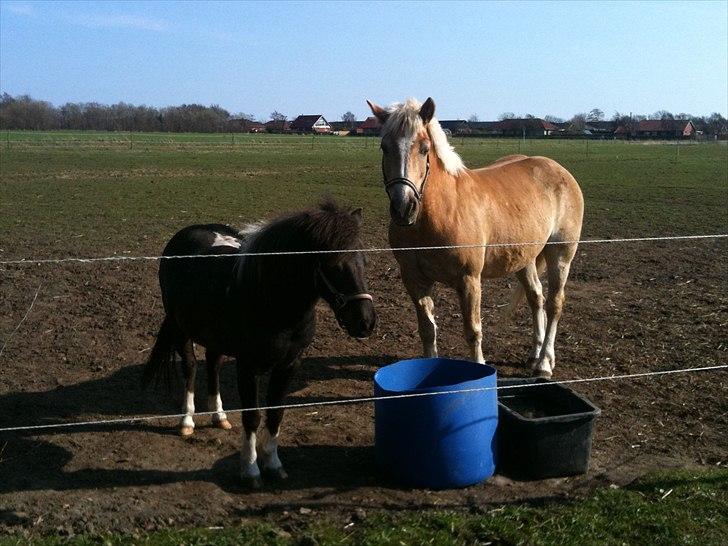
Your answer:
[[[533,374],[539,377],[551,377],[556,367],[554,343],[556,328],[564,307],[564,286],[569,278],[571,260],[576,254],[576,244],[547,245],[544,249],[548,271],[549,292],[546,296],[546,335],[538,362],[533,367]]]

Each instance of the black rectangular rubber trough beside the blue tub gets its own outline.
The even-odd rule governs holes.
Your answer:
[[[589,470],[599,408],[548,379],[500,379],[498,386],[514,387],[498,391],[498,473],[539,480]]]

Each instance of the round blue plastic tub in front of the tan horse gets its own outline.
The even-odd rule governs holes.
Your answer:
[[[465,487],[489,478],[495,471],[498,399],[495,368],[475,362],[416,358],[377,371],[376,396],[483,387],[492,390],[376,401],[380,467],[411,487]]]

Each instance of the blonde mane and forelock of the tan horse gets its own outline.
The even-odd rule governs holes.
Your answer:
[[[382,127],[382,137],[389,135],[410,136],[415,135],[425,124],[420,117],[422,104],[416,99],[407,99],[405,102],[395,103],[387,108],[387,121]],[[447,135],[440,127],[437,118],[432,118],[427,124],[427,132],[435,149],[435,154],[449,174],[458,174],[465,169],[463,160],[447,141]]]

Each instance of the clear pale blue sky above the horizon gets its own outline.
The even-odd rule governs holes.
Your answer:
[[[728,1],[0,0],[0,91],[262,119],[428,96],[440,119],[728,116]]]

